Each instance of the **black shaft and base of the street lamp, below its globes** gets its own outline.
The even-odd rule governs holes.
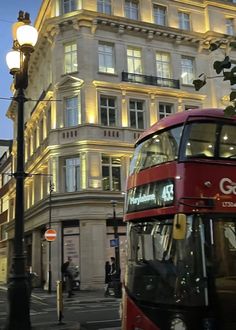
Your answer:
[[[9,278],[8,300],[9,315],[7,329],[31,329],[29,300],[30,288],[27,281],[24,256],[24,90],[20,88],[14,99],[18,103],[17,114],[17,170],[16,205],[15,205],[15,237],[12,274]]]

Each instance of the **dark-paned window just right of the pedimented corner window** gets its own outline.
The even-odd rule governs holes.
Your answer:
[[[100,97],[101,124],[116,126],[116,98],[110,96]]]

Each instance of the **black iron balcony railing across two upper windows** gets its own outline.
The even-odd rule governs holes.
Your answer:
[[[122,72],[122,81],[180,89],[179,80]]]

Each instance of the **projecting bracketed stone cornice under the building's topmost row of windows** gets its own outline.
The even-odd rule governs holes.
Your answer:
[[[213,3],[213,1],[209,1]],[[236,7],[236,6],[235,6]],[[235,8],[236,9],[236,8]],[[198,47],[200,44],[207,45],[209,43],[209,36],[211,35],[211,42],[216,40],[231,40],[232,37],[208,31],[206,33],[184,31],[169,26],[160,26],[150,22],[136,21],[127,19],[126,17],[105,15],[97,12],[81,10],[76,14],[67,16],[58,16],[48,19],[43,29],[40,32],[41,38],[39,39],[38,49],[45,47],[45,43],[53,43],[54,38],[64,29],[73,28],[79,31],[82,27],[87,27],[95,34],[98,29],[109,30],[118,33],[120,36],[123,34],[139,34],[147,40],[168,39],[176,42],[177,44],[192,44]],[[36,51],[37,53],[37,51]],[[36,57],[36,54],[33,56]]]

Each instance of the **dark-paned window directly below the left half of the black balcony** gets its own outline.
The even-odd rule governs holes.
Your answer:
[[[144,101],[129,101],[130,127],[144,129]]]

